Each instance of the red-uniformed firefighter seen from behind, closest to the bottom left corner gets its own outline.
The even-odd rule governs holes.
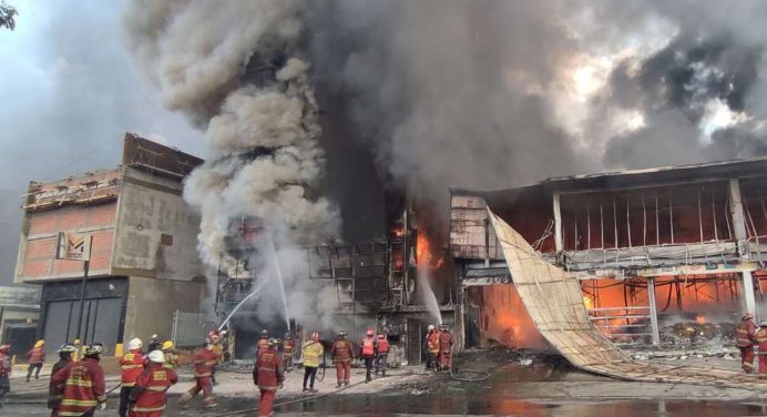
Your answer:
[[[104,369],[99,364],[102,350],[100,343],[88,345],[82,360],[70,363],[51,378],[51,384],[63,386],[60,416],[92,417],[96,406],[106,408]]]

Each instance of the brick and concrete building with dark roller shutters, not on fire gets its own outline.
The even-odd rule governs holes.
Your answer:
[[[132,337],[170,337],[176,309],[200,312],[200,218],[182,181],[202,162],[126,133],[120,166],[30,183],[16,282],[41,285],[39,337],[49,346],[73,340],[81,326],[83,343],[113,353]],[[55,258],[59,232],[93,238],[80,326],[83,263]]]

